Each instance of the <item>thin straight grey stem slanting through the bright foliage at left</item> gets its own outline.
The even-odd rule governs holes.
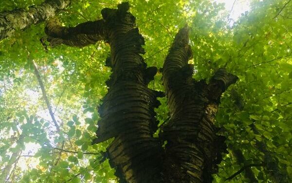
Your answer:
[[[37,63],[35,62],[35,60],[32,60],[33,62],[33,66],[34,66],[34,70],[35,70],[35,75],[37,77],[37,81],[38,81],[38,84],[40,86],[40,89],[41,89],[41,92],[42,92],[42,96],[47,104],[47,108],[49,110],[49,113],[52,117],[52,120],[53,120],[53,123],[57,129],[57,131],[60,131],[60,127],[58,125],[58,123],[56,122],[56,119],[55,119],[55,116],[54,116],[54,113],[53,113],[53,110],[52,110],[52,107],[51,107],[51,104],[50,104],[50,101],[48,99],[48,96],[47,96],[47,93],[46,93],[46,90],[45,90],[45,86],[40,78],[40,75],[39,75],[39,72],[38,72],[38,69],[37,69]]]

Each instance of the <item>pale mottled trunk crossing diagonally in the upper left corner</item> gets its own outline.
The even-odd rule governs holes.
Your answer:
[[[26,9],[0,13],[0,40],[11,37],[17,29],[25,29],[55,16],[58,10],[66,8],[71,0],[45,0],[42,4]]]

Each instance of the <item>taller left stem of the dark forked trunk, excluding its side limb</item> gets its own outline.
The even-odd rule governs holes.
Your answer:
[[[160,182],[162,145],[153,138],[157,129],[153,109],[162,93],[147,88],[157,69],[146,69],[140,55],[144,54],[144,38],[127,11],[128,3],[120,4],[117,10],[106,8],[103,20],[99,20],[106,29],[103,37],[110,43],[107,65],[112,75],[107,82],[109,92],[99,108],[101,120],[94,143],[114,137],[107,156],[120,182],[155,183]]]

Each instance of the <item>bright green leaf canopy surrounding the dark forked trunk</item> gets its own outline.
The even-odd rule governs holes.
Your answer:
[[[178,29],[188,23],[196,79],[225,67],[239,80],[221,98],[216,125],[226,136],[229,154],[214,182],[224,182],[244,165],[259,183],[273,181],[270,164],[292,179],[292,17],[290,0],[254,0],[251,10],[230,25],[223,5],[209,0],[129,0],[131,13],[146,39],[147,65],[162,67]],[[102,8],[120,1],[79,0],[61,11],[64,25],[101,18]],[[0,11],[41,3],[4,0]],[[285,7],[284,7],[285,6]],[[283,8],[284,7],[284,8]],[[267,13],[268,12],[268,13]],[[107,93],[105,67],[109,46],[58,46],[48,50],[38,41],[44,23],[18,31],[0,42],[0,168],[9,169],[7,183],[109,183],[114,170],[102,161],[109,142],[91,146],[99,119],[97,107]],[[35,60],[61,128],[56,131],[31,61]],[[161,73],[149,88],[163,91]],[[165,98],[156,109],[167,119]],[[266,151],[258,144],[265,144]],[[32,148],[34,147],[34,148]],[[240,149],[239,162],[233,150]],[[267,154],[271,160],[267,160]],[[15,156],[15,157],[13,157]],[[230,182],[244,183],[237,175]]]

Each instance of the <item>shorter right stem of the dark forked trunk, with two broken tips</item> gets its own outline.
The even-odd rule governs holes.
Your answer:
[[[211,183],[218,171],[221,153],[226,150],[224,137],[216,135],[214,117],[219,98],[237,77],[220,69],[209,84],[192,79],[193,65],[188,45],[189,29],[176,35],[164,61],[163,84],[168,99],[170,120],[163,127],[167,141],[164,182]]]

